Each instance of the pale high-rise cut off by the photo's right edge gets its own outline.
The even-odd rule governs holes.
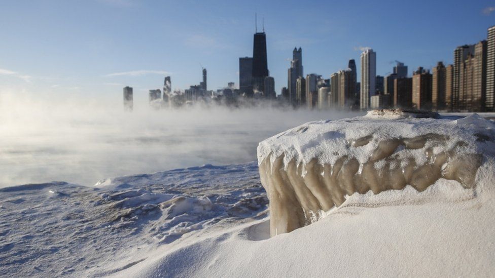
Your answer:
[[[495,26],[488,28],[486,39],[485,111],[495,111]]]

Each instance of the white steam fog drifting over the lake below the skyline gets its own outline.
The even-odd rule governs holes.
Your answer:
[[[256,160],[258,142],[308,121],[355,116],[267,107],[124,112],[119,100],[0,95],[0,187]]]

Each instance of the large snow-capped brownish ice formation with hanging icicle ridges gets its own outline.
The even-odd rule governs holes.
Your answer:
[[[423,191],[441,178],[474,188],[494,141],[495,125],[476,114],[448,120],[368,113],[275,135],[258,146],[270,234],[319,220],[346,195],[407,185]]]

